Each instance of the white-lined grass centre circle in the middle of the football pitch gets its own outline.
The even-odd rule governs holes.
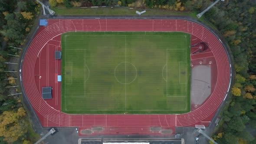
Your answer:
[[[115,67],[115,79],[121,84],[128,85],[135,81],[137,69],[131,62],[121,62]]]

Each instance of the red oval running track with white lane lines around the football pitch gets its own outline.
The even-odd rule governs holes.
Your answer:
[[[43,52],[44,47],[50,49],[47,43],[53,42],[56,37],[69,31],[178,31],[190,33],[208,43],[216,59],[216,86],[200,108],[181,115],[69,115],[62,113],[59,108],[51,107],[42,99],[40,88],[36,85],[36,81],[38,81],[36,61],[38,56],[41,56],[40,52]],[[56,47],[53,49],[60,49],[59,42],[56,43]],[[49,53],[47,49],[44,50],[46,55]],[[49,63],[47,59],[46,62]],[[59,67],[58,64],[56,65]],[[45,75],[49,78],[51,72]],[[194,126],[195,124],[208,125],[207,121],[211,121],[223,101],[228,89],[229,78],[230,66],[220,41],[208,29],[187,20],[48,20],[48,26],[40,27],[27,49],[22,68],[22,80],[26,95],[43,127],[80,127],[85,129],[103,127],[103,131],[94,132],[91,135],[163,135],[161,132],[153,133],[150,131],[150,127],[175,131],[175,127]]]

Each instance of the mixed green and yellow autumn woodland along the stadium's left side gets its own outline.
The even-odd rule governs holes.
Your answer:
[[[19,87],[6,88],[19,85],[14,79],[16,74],[4,71],[10,69],[5,62],[10,62],[12,58],[7,54],[20,55],[19,49],[10,46],[24,48],[26,36],[33,27],[39,9],[40,5],[35,0],[0,0],[0,144],[35,142],[22,97],[10,96],[18,93]]]

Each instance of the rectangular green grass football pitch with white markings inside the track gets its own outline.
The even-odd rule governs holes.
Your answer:
[[[190,35],[62,34],[62,111],[174,114],[190,111]]]

